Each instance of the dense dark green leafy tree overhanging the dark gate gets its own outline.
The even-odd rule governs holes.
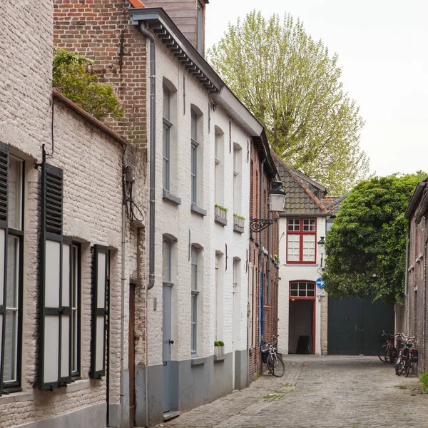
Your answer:
[[[325,238],[325,290],[335,298],[404,292],[409,200],[425,173],[362,180],[342,203]]]

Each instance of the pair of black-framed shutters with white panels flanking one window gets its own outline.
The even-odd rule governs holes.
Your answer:
[[[0,216],[1,189],[0,177]],[[108,258],[108,248],[93,246],[90,376],[94,379],[106,373]],[[71,382],[72,241],[63,236],[63,170],[45,162],[41,164],[40,260],[39,388],[53,390]]]

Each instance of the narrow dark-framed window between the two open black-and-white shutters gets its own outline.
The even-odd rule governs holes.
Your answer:
[[[80,377],[81,246],[71,245],[71,376]]]

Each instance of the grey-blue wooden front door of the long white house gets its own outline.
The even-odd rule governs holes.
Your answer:
[[[163,412],[171,409],[171,286],[163,286]]]

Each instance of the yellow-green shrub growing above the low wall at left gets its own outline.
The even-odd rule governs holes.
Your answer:
[[[90,71],[92,64],[85,56],[59,49],[54,56],[52,85],[99,121],[108,114],[121,118],[123,107],[113,87],[98,83],[97,76]]]

